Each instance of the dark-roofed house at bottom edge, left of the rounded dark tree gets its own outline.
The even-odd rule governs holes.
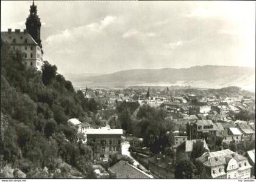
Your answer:
[[[174,178],[174,159],[165,155],[154,155],[148,159],[149,170],[160,178]]]

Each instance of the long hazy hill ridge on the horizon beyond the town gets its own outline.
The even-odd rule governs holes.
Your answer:
[[[188,69],[135,69],[79,78],[90,86],[172,86],[221,88],[238,86],[254,91],[255,70],[236,66],[195,66]],[[77,85],[77,81],[73,81]]]

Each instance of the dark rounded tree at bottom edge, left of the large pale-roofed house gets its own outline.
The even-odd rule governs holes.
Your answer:
[[[197,178],[196,166],[188,160],[180,161],[175,168],[176,179],[194,179]]]

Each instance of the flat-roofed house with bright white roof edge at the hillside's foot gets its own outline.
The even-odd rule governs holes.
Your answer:
[[[95,158],[108,158],[116,153],[121,153],[122,129],[86,129],[84,135],[87,144],[92,147]]]

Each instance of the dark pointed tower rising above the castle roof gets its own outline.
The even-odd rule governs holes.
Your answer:
[[[33,4],[30,5],[30,15],[26,21],[26,29],[32,38],[37,42],[37,44],[42,48],[40,38],[41,22],[37,15],[37,6],[35,5],[34,0]]]

